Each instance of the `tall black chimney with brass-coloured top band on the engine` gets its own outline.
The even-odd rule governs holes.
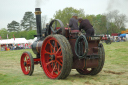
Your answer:
[[[37,40],[41,38],[41,9],[35,8],[36,27],[37,27]]]

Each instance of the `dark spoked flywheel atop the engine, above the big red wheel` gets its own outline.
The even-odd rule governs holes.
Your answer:
[[[57,27],[57,23],[59,23],[60,27]],[[48,28],[48,34],[62,34],[65,35],[65,29],[64,25],[61,20],[59,19],[54,19],[50,22],[49,28]]]

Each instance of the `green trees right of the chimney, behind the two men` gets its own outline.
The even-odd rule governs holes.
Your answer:
[[[86,15],[83,9],[74,9],[73,7],[66,7],[63,10],[58,10],[54,14],[54,19],[60,19],[64,26],[69,22],[70,18],[74,13],[78,14],[78,17],[83,19],[88,19],[95,29],[95,34],[107,34],[108,33],[120,33],[125,30],[124,23],[127,22],[126,15],[118,14],[118,11],[112,11],[108,14],[98,14],[98,15]],[[108,17],[109,16],[109,17]],[[57,23],[58,24],[58,23]]]

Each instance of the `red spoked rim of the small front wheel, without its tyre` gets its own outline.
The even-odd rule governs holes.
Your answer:
[[[30,73],[31,60],[27,53],[23,53],[21,56],[21,69],[25,75]]]

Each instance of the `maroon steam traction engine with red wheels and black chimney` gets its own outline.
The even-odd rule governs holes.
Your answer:
[[[21,69],[25,75],[32,75],[34,64],[41,64],[51,79],[64,79],[71,69],[82,75],[96,75],[102,70],[105,61],[104,48],[99,43],[102,37],[85,37],[78,30],[70,31],[58,19],[41,30],[40,8],[35,9],[35,14],[37,40],[32,44],[32,50],[36,58],[30,52],[21,55]]]

